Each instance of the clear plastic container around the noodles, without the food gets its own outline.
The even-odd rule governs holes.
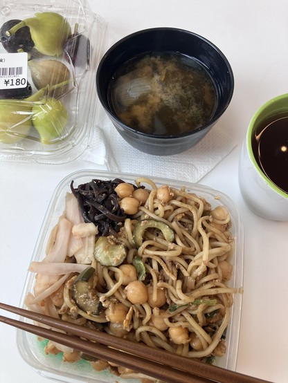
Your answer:
[[[70,184],[74,180],[74,187],[82,183],[87,183],[93,178],[100,180],[113,180],[114,178],[121,178],[122,180],[134,183],[138,176],[134,174],[121,174],[109,171],[91,171],[83,170],[76,171],[75,173],[67,176],[62,180],[60,185],[55,189],[51,203],[46,212],[42,228],[39,232],[39,237],[35,245],[35,251],[31,261],[42,261],[45,256],[46,243],[52,228],[57,223],[57,219],[64,211],[64,198],[66,192],[71,192]],[[235,237],[235,252],[231,259],[233,264],[233,277],[229,281],[229,286],[238,288],[240,293],[235,294],[234,303],[231,312],[231,319],[228,324],[226,333],[226,355],[217,359],[217,365],[228,368],[232,371],[236,368],[237,362],[237,349],[240,335],[240,320],[242,310],[242,286],[243,286],[243,268],[244,268],[244,238],[242,222],[237,213],[237,209],[233,201],[228,196],[218,192],[217,190],[210,189],[210,187],[190,184],[183,181],[168,180],[164,178],[152,178],[157,186],[169,185],[171,187],[180,188],[186,186],[188,192],[194,192],[197,196],[204,197],[211,205],[212,208],[224,205],[228,208],[231,214],[231,232]],[[21,306],[24,306],[24,299],[28,292],[33,291],[33,284],[35,283],[35,274],[28,272],[26,284],[24,286],[23,295],[21,299]],[[127,382],[127,380],[120,379],[109,373],[109,371],[95,371],[91,368],[89,362],[80,360],[75,363],[62,362],[62,355],[46,355],[44,353],[44,342],[39,342],[35,335],[25,333],[24,331],[17,331],[17,345],[21,357],[35,369],[38,373],[45,377],[62,382]],[[129,380],[129,382],[138,382],[138,380]]]

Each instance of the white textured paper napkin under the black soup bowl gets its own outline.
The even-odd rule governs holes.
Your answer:
[[[188,151],[173,156],[152,156],[134,149],[120,136],[107,115],[98,118],[83,160],[111,171],[159,176],[197,183],[236,146],[221,124]]]

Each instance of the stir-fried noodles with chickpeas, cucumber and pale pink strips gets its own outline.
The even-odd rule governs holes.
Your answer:
[[[119,185],[119,190],[127,186],[120,180]],[[128,193],[134,201],[127,200],[138,201],[136,211],[102,236],[97,224],[79,213],[75,190],[66,196],[46,259],[30,266],[37,279],[34,295],[26,297],[28,308],[204,362],[224,355],[236,292],[227,286],[234,250],[228,209],[211,209],[185,187],[157,187],[138,178]],[[120,207],[123,200],[121,210],[117,207],[122,215],[125,193],[117,196]],[[100,238],[106,241],[102,245]],[[70,362],[85,357],[48,342],[47,353],[59,351]],[[108,365],[91,364],[96,369]],[[120,366],[117,373],[140,376]]]

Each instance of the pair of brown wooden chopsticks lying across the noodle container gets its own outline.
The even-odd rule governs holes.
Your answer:
[[[60,329],[65,333],[0,316],[0,321],[3,323],[69,346],[88,355],[131,368],[167,383],[269,383],[267,380],[204,364],[195,359],[175,355],[159,348],[152,348],[128,339],[84,328],[6,303],[0,302],[0,308]]]

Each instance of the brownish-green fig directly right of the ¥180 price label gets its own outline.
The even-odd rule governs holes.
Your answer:
[[[44,88],[47,85],[53,86],[70,79],[69,69],[65,64],[55,59],[30,60],[28,66],[33,84],[37,89]],[[62,97],[68,86],[66,84],[66,86],[54,89],[51,96],[55,98]]]

